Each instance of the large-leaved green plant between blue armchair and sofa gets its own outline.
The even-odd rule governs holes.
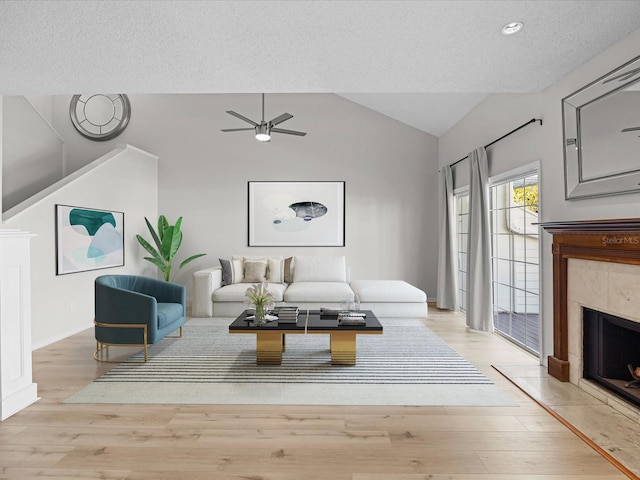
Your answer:
[[[169,224],[167,217],[160,215],[158,218],[157,232],[154,230],[147,217],[144,217],[144,221],[147,222],[147,227],[149,228],[149,232],[151,233],[151,237],[155,243],[154,247],[141,235],[136,235],[140,245],[142,245],[142,247],[151,254],[151,257],[144,257],[144,259],[158,267],[158,269],[164,274],[164,279],[168,282],[171,278],[173,258],[182,244],[182,231],[180,230],[180,227],[182,226],[182,217],[178,217],[175,225],[171,225]],[[206,253],[191,255],[180,264],[178,270],[184,267],[187,263],[204,255],[206,255]]]

